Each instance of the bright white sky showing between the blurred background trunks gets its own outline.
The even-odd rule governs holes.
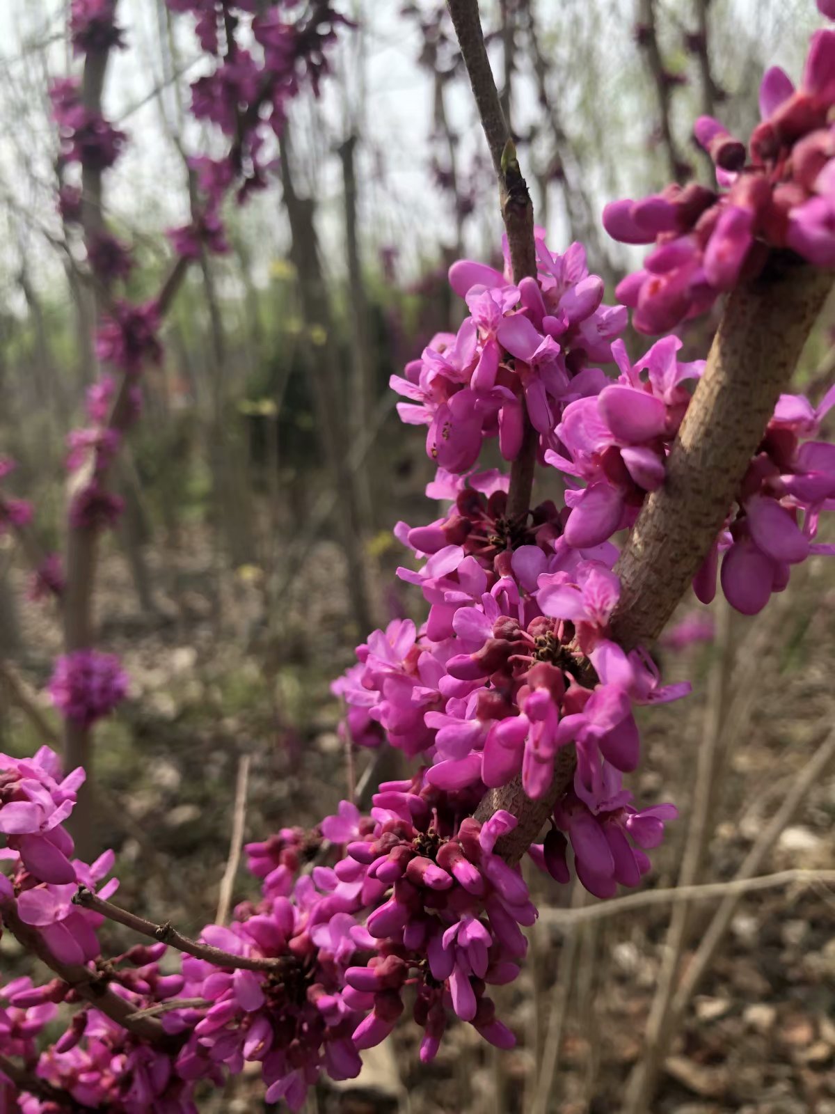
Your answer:
[[[107,201],[117,223],[127,228],[140,228],[158,240],[160,226],[185,217],[183,168],[170,144],[165,139],[157,101],[150,98],[160,77],[157,0],[120,0],[119,20],[124,25],[130,49],[116,56],[108,72],[106,108],[111,118],[124,120],[130,136],[130,147],[117,168],[107,176]],[[327,258],[338,270],[342,258],[341,178],[333,148],[344,136],[351,107],[357,102],[358,74],[364,74],[365,119],[364,148],[361,152],[362,231],[366,250],[371,244],[394,244],[406,273],[416,273],[421,262],[436,254],[439,240],[451,241],[452,223],[449,202],[434,188],[428,169],[429,133],[432,116],[432,88],[429,77],[416,65],[420,36],[413,22],[400,14],[399,0],[354,0],[363,26],[362,37],[344,36],[337,74],[327,85],[323,101],[314,109],[302,104],[294,113],[296,146],[305,148],[304,163],[311,170],[320,202],[320,222]],[[483,3],[489,16],[493,4]],[[24,214],[12,222],[14,235],[0,244],[0,275],[18,266],[18,251],[27,253],[39,284],[49,284],[60,274],[55,254],[45,247],[38,228],[52,227],[52,198],[49,189],[55,153],[55,139],[43,105],[45,81],[41,68],[59,76],[67,71],[70,59],[61,40],[65,0],[0,0],[0,213],[8,198]],[[661,0],[665,26],[674,38],[668,43],[668,61],[676,66],[694,66],[681,56],[680,33],[676,22],[689,22],[690,0]],[[733,94],[748,92],[759,80],[759,72],[740,72],[740,42],[753,39],[764,60],[780,61],[793,75],[805,51],[806,36],[817,21],[813,0],[714,0],[714,19],[730,36],[713,43],[716,66],[726,87]],[[633,2],[611,0],[540,0],[540,26],[551,32],[546,41],[554,58],[556,81],[563,116],[580,141],[590,141],[584,131],[579,97],[593,98],[598,108],[600,134],[595,137],[606,148],[612,145],[603,160],[608,168],[596,170],[591,189],[597,207],[613,196],[657,188],[652,163],[648,164],[646,131],[648,123],[639,110],[646,100],[639,98],[646,89],[646,77],[631,40]],[[176,17],[178,48],[183,58],[194,58],[196,42],[189,17]],[[591,30],[602,19],[601,31]],[[601,33],[602,32],[602,33]],[[48,51],[37,56],[37,66],[21,60],[27,47],[55,39]],[[553,47],[551,47],[553,43]],[[578,45],[584,51],[578,58]],[[360,67],[360,55],[365,66]],[[497,53],[497,60],[500,53]],[[735,68],[736,63],[736,68]],[[193,79],[204,65],[199,59],[188,77]],[[578,72],[581,67],[583,74]],[[593,71],[593,72],[592,72]],[[563,85],[561,74],[567,78]],[[347,76],[346,76],[347,75]],[[461,84],[460,84],[461,85]],[[586,88],[581,88],[584,85]],[[186,91],[187,96],[187,91]],[[684,134],[686,121],[694,115],[696,89],[677,94],[677,113]],[[688,99],[689,98],[689,99]],[[469,91],[461,85],[451,99],[453,125],[462,135],[462,156],[483,144]],[[168,104],[171,104],[170,97]],[[138,106],[138,107],[137,107]],[[605,106],[605,115],[601,107]],[[524,78],[518,85],[517,120],[521,130],[536,118],[537,105]],[[611,117],[607,126],[606,120]],[[600,121],[603,120],[602,125]],[[324,121],[324,126],[323,126]],[[203,140],[194,128],[187,143],[197,149]],[[603,165],[601,162],[601,166]],[[30,164],[28,169],[27,164]],[[383,174],[379,173],[382,165]],[[649,174],[648,174],[649,167]],[[660,166],[657,166],[660,172]],[[31,180],[32,174],[36,179]],[[485,190],[492,188],[485,183]],[[3,201],[6,198],[6,203]],[[564,246],[567,227],[557,206],[553,209],[551,238],[554,247]],[[269,258],[281,253],[283,243],[279,216],[279,190],[269,190],[256,198],[245,216],[252,232],[256,276],[266,273]],[[1,225],[0,225],[1,227]],[[35,229],[35,231],[32,231]],[[470,222],[468,247],[484,251],[498,235],[494,206]],[[17,240],[23,240],[18,245]],[[617,248],[615,248],[617,251]],[[56,270],[58,268],[58,270]]]

